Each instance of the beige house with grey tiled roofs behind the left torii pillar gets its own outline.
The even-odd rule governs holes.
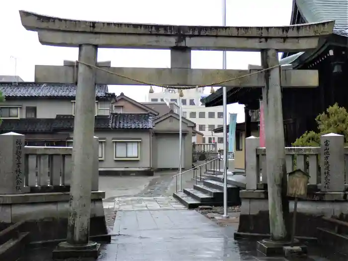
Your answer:
[[[147,174],[179,165],[179,115],[154,109],[106,85],[95,89],[94,136],[100,174]],[[75,85],[0,83],[0,133],[25,134],[29,146],[74,146]],[[167,109],[166,109],[167,108]],[[159,110],[159,111],[158,111]],[[195,124],[182,121],[182,168],[192,166]]]

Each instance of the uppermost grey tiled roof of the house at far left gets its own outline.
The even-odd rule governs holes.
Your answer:
[[[37,83],[0,83],[0,91],[5,97],[75,97],[76,85],[37,84]],[[108,97],[107,85],[96,85],[96,97]]]

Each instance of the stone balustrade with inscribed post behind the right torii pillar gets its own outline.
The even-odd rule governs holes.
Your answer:
[[[267,183],[266,148],[259,148],[257,137],[246,138],[246,188],[258,189]],[[320,191],[343,192],[348,180],[348,147],[338,134],[321,136],[321,147],[285,147],[286,172],[301,169],[310,175],[309,183]],[[262,175],[263,174],[263,175]]]

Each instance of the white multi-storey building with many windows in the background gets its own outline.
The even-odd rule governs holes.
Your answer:
[[[217,149],[223,149],[223,134],[214,133],[215,128],[223,126],[222,106],[205,107],[201,103],[204,88],[183,90],[179,99],[177,89],[163,88],[160,92],[149,92],[149,102],[175,102],[182,105],[182,116],[196,124],[196,130],[203,133],[202,143],[216,143]]]

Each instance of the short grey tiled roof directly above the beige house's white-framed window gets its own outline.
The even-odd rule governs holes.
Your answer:
[[[109,126],[112,129],[152,129],[153,115],[151,113],[112,113]]]

